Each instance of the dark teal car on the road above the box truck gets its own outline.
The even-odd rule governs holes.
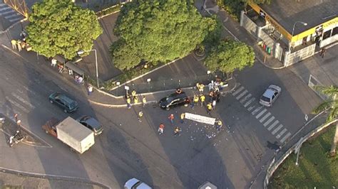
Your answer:
[[[66,113],[74,112],[76,109],[78,109],[78,102],[60,92],[53,92],[51,95],[49,95],[49,102],[51,102],[51,104],[57,104]]]

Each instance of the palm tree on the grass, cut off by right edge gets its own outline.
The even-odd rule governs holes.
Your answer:
[[[337,86],[330,86],[330,87],[322,87],[322,86],[315,86],[315,90],[322,92],[324,95],[327,95],[329,99],[325,100],[322,104],[319,104],[312,113],[318,114],[326,109],[329,109],[329,115],[327,116],[326,122],[329,123],[331,121],[336,120],[336,132],[334,134],[332,140],[332,146],[330,150],[330,156],[336,156],[336,148],[338,143],[338,121],[337,121],[337,114],[338,114],[338,87]]]

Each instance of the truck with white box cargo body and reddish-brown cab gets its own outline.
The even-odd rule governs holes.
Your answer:
[[[93,131],[71,117],[63,121],[52,118],[42,128],[78,153],[87,151],[95,144]]]

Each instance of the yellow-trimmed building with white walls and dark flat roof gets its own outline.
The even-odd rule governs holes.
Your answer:
[[[249,2],[240,26],[257,38],[267,55],[292,65],[338,42],[338,0]]]

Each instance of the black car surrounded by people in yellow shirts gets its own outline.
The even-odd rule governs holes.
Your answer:
[[[185,92],[180,92],[173,93],[168,97],[160,99],[159,104],[161,108],[169,110],[170,107],[182,106],[185,104],[189,104],[189,102],[190,99],[187,95],[185,95]]]

